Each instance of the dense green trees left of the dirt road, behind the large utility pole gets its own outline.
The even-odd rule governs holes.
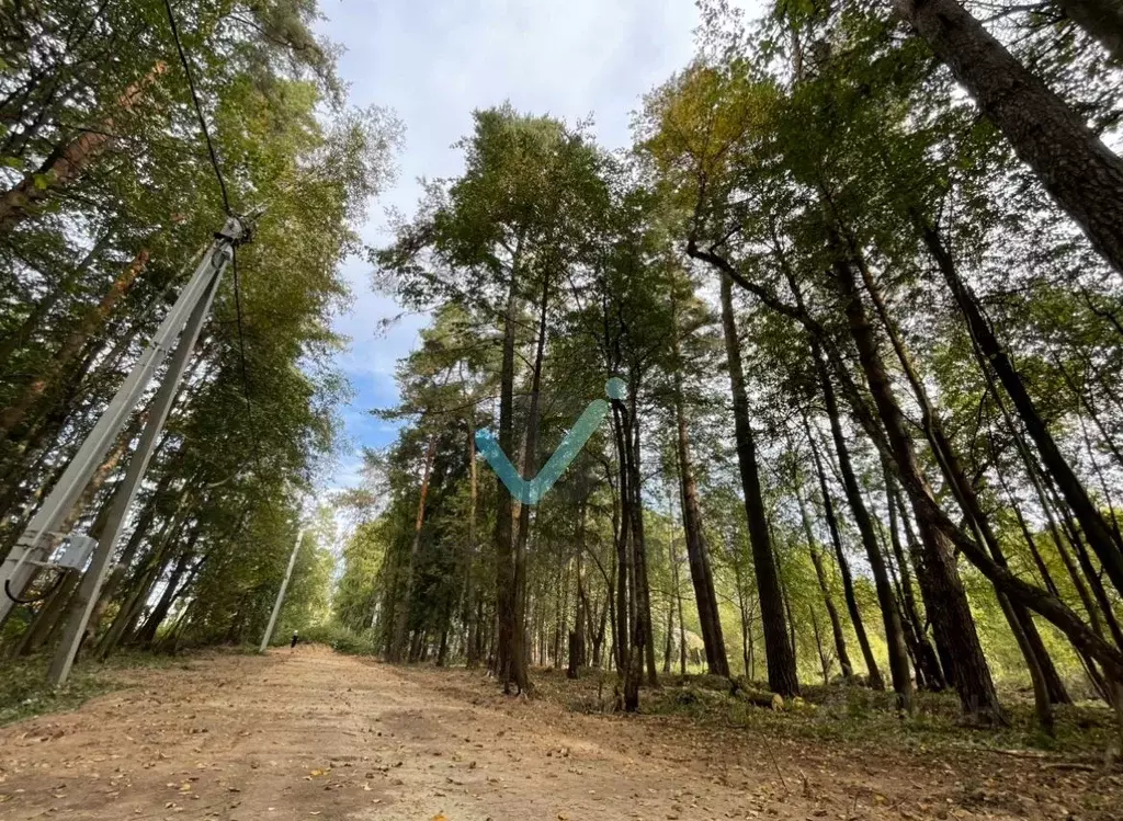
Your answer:
[[[313,3],[179,3],[179,44],[172,13],[146,0],[0,9],[0,555],[223,212],[267,206],[216,293],[116,542],[84,628],[90,658],[264,632],[349,391],[331,361],[345,340],[330,318],[351,299],[338,268],[360,250],[357,227],[401,133],[391,112],[349,106]],[[155,394],[154,383],[58,535],[112,540]],[[328,608],[330,535],[314,522],[305,532],[280,629]],[[8,613],[7,658],[57,645],[89,600],[81,578],[44,569],[17,594],[30,603]]]

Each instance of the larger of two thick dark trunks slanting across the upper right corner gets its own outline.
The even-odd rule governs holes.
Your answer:
[[[956,0],[893,0],[1019,158],[1123,273],[1123,161]]]

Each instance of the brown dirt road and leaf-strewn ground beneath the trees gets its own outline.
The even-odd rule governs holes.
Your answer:
[[[800,717],[759,708],[757,722],[718,710],[601,713],[595,681],[566,690],[558,674],[539,676],[535,699],[515,699],[480,673],[392,667],[302,646],[113,675],[116,692],[0,729],[0,818],[1123,814],[1123,775],[1071,752],[957,747],[935,732],[876,727],[832,738],[815,721],[789,731]],[[696,708],[710,697],[677,700]]]

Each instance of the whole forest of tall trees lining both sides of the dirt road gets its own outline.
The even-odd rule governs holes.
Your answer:
[[[121,538],[155,384],[53,535],[100,538],[104,583],[39,573],[7,663],[91,603],[86,659],[256,644],[298,539],[277,640],[512,695],[564,669],[623,713],[694,676],[988,728],[1024,702],[1044,736],[1095,702],[1123,738],[1123,9],[700,9],[631,146],[496,101],[371,245],[402,128],[348,103],[312,0],[6,3],[0,555],[267,203]],[[429,323],[371,409],[393,444],[317,505],[355,256]],[[536,504],[477,450],[531,477],[608,399]]]

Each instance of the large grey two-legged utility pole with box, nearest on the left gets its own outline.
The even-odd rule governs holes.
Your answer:
[[[3,591],[3,594],[0,595],[0,622],[2,622],[11,611],[16,600],[22,596],[35,573],[36,565],[42,565],[45,559],[49,558],[58,539],[66,536],[66,533],[57,532],[57,529],[74,507],[93,472],[104,459],[106,453],[120,435],[129,416],[147,391],[152,377],[167,358],[172,346],[175,345],[175,353],[153,400],[148,421],[140,435],[137,449],[129,462],[125,480],[113,496],[112,516],[82,580],[79,590],[82,606],[75,610],[74,617],[66,624],[63,642],[52,663],[51,681],[55,685],[64,683],[70,674],[82,633],[111,564],[110,559],[125,523],[129,504],[144,480],[148,460],[152,458],[167,419],[176,389],[191,358],[195,340],[199,338],[199,331],[207,319],[222,272],[226,271],[234,256],[234,246],[248,239],[250,222],[258,213],[259,211],[247,218],[229,217],[222,230],[214,235],[214,239],[203,252],[191,280],[180,293],[164,321],[161,322],[152,343],[137,359],[133,371],[98,419],[93,430],[82,443],[77,454],[28,522],[27,529],[12,547],[8,558],[0,565],[0,587]],[[179,340],[177,344],[176,340]]]

